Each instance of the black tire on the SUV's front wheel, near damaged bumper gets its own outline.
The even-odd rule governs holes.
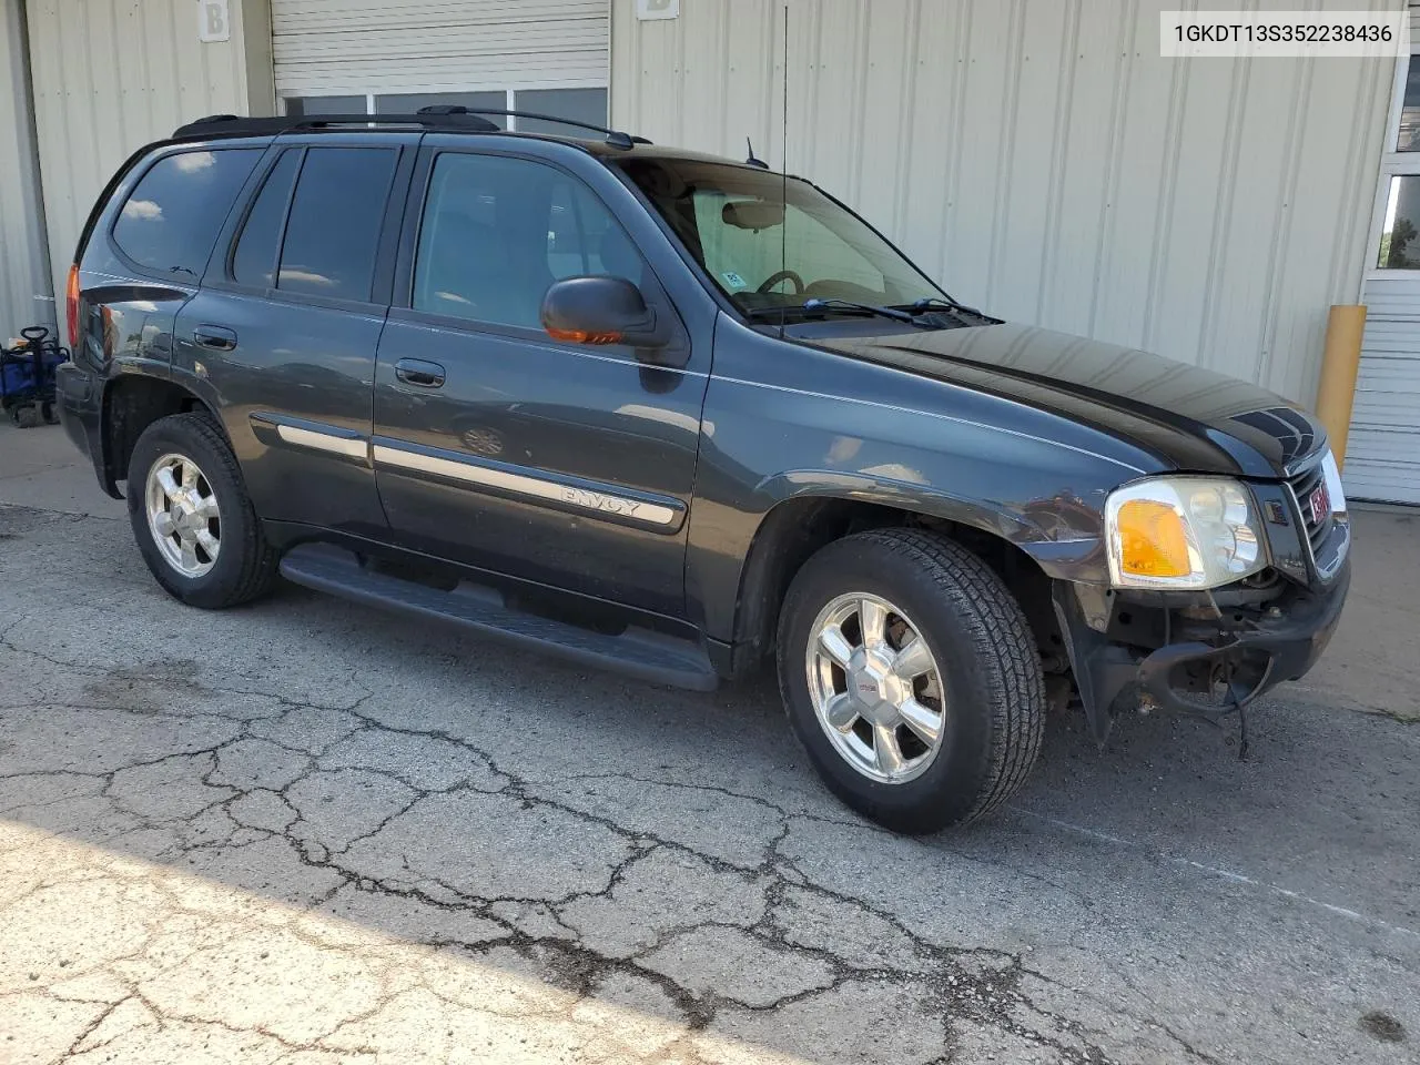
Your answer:
[[[932,672],[903,682],[895,677],[910,672],[906,665],[890,674],[836,669],[841,655],[824,649],[818,630],[853,611],[855,601],[862,606],[856,596],[865,594],[892,608],[880,615],[885,636],[873,646],[896,662],[916,633],[932,655]],[[856,630],[862,640],[863,621],[853,618],[869,613],[866,606],[849,613],[839,636]],[[852,643],[846,636],[834,645],[839,652]],[[868,642],[861,642],[851,662],[866,662],[866,653]],[[790,726],[819,775],[845,804],[897,832],[934,832],[990,814],[1021,787],[1041,747],[1045,682],[1025,615],[985,562],[924,530],[859,532],[809,558],[780,612],[778,673]],[[825,692],[841,694],[822,699]],[[940,737],[934,746],[906,717],[893,724],[893,699],[905,692],[919,720],[922,707],[936,710],[926,716],[927,734]],[[843,696],[851,701],[841,703]],[[816,699],[836,704],[838,717],[821,717]],[[872,707],[865,716],[842,724],[865,706]],[[831,720],[841,723],[836,733]],[[880,728],[896,737],[886,747],[900,757],[899,778],[882,778],[880,758],[863,761],[865,736],[875,751],[885,746]]]

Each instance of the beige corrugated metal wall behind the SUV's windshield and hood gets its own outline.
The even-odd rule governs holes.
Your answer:
[[[950,293],[1312,402],[1328,307],[1359,294],[1393,61],[1164,60],[1174,0],[788,7],[790,170]],[[778,166],[784,0],[635,11],[612,0],[613,124],[737,158],[751,135]]]

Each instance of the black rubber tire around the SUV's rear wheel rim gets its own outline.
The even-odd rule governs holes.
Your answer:
[[[149,474],[159,462],[173,459],[197,469],[197,491],[214,498],[219,511],[206,523],[207,531],[217,538],[217,548],[207,555],[199,547],[196,569],[190,572],[170,561],[170,548],[159,544],[159,532],[149,518]],[[143,561],[175,599],[189,606],[222,609],[250,602],[271,589],[278,555],[261,532],[231,447],[206,413],[170,415],[143,430],[128,463],[126,494],[128,517]],[[192,520],[199,524],[197,517]],[[169,544],[176,537],[169,537]]]

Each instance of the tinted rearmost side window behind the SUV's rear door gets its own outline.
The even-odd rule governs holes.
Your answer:
[[[153,163],[124,203],[114,241],[135,263],[202,277],[241,183],[261,152],[180,152]]]

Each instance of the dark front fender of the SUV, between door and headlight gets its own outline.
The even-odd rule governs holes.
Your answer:
[[[717,337],[686,555],[692,621],[734,642],[755,557],[795,500],[960,523],[1054,578],[1108,581],[1106,496],[1146,456],[1048,412],[767,337]],[[792,511],[792,507],[790,508]]]

